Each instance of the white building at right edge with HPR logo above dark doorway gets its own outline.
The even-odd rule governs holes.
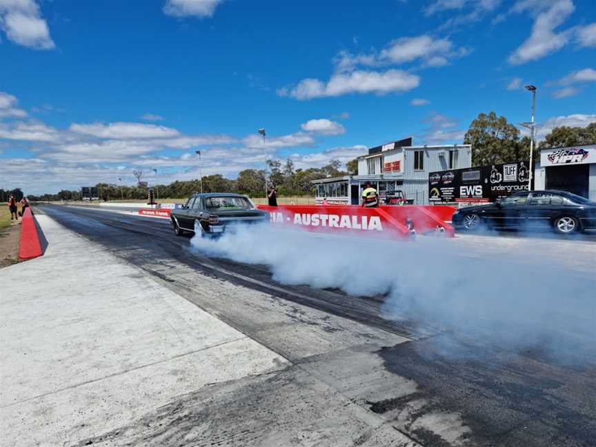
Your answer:
[[[534,189],[564,190],[596,201],[596,144],[541,150]]]

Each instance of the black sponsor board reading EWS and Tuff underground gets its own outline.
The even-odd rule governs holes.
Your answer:
[[[529,175],[527,161],[430,172],[428,200],[431,203],[496,201],[513,192],[528,190]]]

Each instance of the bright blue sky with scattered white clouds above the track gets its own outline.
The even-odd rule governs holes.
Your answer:
[[[526,83],[539,137],[596,121],[593,0],[0,0],[0,39],[0,188],[32,194],[461,143]]]

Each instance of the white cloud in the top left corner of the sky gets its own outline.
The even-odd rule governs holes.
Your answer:
[[[42,50],[55,47],[34,0],[0,0],[0,28],[19,45]]]

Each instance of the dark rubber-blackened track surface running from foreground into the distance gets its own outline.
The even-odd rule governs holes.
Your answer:
[[[192,268],[280,300],[410,339],[383,347],[376,354],[386,370],[415,381],[415,395],[395,397],[387,393],[384,399],[367,402],[368,410],[395,417],[396,424],[399,419],[396,410],[409,406],[412,414],[458,413],[470,428],[466,440],[470,446],[596,445],[594,357],[566,362],[550,359],[539,349],[507,352],[481,340],[442,331],[424,321],[393,321],[382,311],[384,297],[381,296],[351,297],[339,290],[284,286],[272,280],[266,266],[201,257],[192,252],[190,238],[175,237],[166,219],[66,206],[38,208],[66,228],[163,281],[172,290],[185,292],[181,293],[183,296],[188,297],[192,284],[179,281],[176,271]],[[226,315],[218,317],[226,321]],[[257,332],[248,323],[246,326],[237,320],[232,323],[249,336]],[[437,350],[437,339],[455,344],[470,355],[461,359],[445,357]],[[592,352],[589,348],[595,341],[582,341],[588,346],[586,352]],[[417,409],[413,404],[419,399],[426,402],[424,408]],[[408,424],[401,426],[401,430],[424,446],[455,445]]]

